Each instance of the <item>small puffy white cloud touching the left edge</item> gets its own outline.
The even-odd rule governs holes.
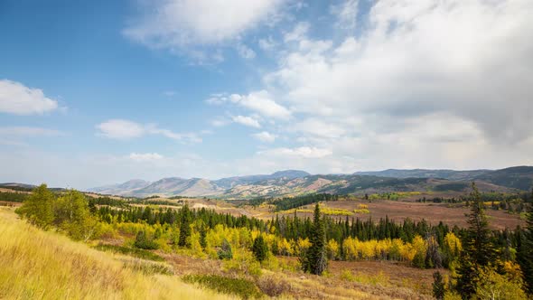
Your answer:
[[[11,80],[0,80],[0,113],[42,115],[57,108],[58,102],[44,96],[42,89],[28,88]]]

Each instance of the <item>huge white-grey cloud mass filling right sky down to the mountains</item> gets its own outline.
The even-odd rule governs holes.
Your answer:
[[[261,93],[290,108],[277,129],[295,145],[259,152],[269,158],[261,167],[351,173],[531,163],[533,2],[379,1],[364,20],[357,5],[331,9],[334,26],[349,29],[340,41],[309,38],[306,23],[285,33],[294,43]],[[320,160],[302,158],[303,149]]]

